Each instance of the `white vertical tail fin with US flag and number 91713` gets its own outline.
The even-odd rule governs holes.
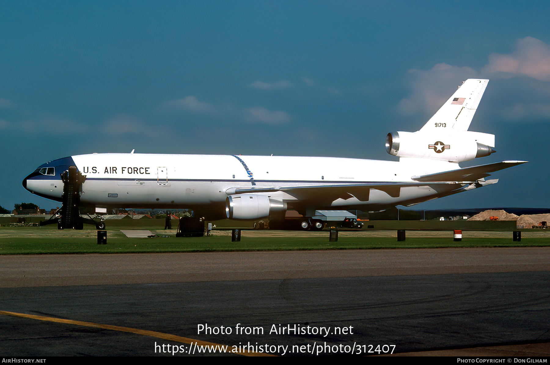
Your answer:
[[[455,91],[437,113],[433,115],[428,123],[421,129],[421,132],[451,132],[454,130],[468,130],[472,118],[480,103],[485,87],[489,80],[467,79]]]

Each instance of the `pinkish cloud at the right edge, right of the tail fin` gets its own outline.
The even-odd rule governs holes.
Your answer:
[[[518,40],[511,54],[490,54],[484,70],[503,78],[527,76],[550,81],[550,46],[537,38],[525,37]]]

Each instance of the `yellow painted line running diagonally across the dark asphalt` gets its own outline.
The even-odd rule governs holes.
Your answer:
[[[145,330],[145,329],[137,329],[137,328],[130,328],[130,327],[113,326],[113,325],[110,325],[110,324],[82,322],[80,320],[35,316],[34,314],[15,313],[15,312],[6,312],[6,311],[0,311],[0,314],[2,314],[3,316],[12,316],[12,317],[37,319],[37,320],[46,320],[47,322],[74,324],[74,325],[79,325],[79,326],[84,326],[84,327],[103,328],[103,329],[110,329],[110,330],[113,330],[113,331],[135,333],[135,334],[138,334],[138,335],[151,336],[151,337],[156,337],[156,338],[163,339],[163,340],[168,340],[168,341],[182,342],[183,344],[191,345],[190,349],[192,349],[193,346],[214,346],[214,347],[219,346],[218,347],[219,352],[222,352],[221,351],[221,349],[223,348],[222,346],[225,346],[225,345],[215,344],[213,342],[199,341],[199,340],[189,339],[189,338],[182,337],[182,336],[171,335],[169,333],[148,331],[148,330]],[[233,352],[233,351],[231,351],[232,348],[233,348],[233,346],[227,346],[227,351],[225,351],[225,352],[234,353],[235,355],[243,355],[243,356],[274,356],[274,355],[271,355],[269,353],[263,353],[263,352],[248,352],[248,351]],[[190,350],[190,352],[191,352],[191,350]],[[169,352],[167,352],[167,353],[169,353]],[[197,355],[199,355],[199,352],[195,352],[195,353]],[[216,352],[202,351],[200,353],[203,354],[203,353],[216,353]],[[189,355],[193,355],[193,353],[190,353]]]

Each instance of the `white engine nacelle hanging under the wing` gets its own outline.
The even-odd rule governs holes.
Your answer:
[[[270,199],[267,195],[239,194],[226,199],[226,214],[229,219],[256,219],[270,213],[287,210],[287,203]]]

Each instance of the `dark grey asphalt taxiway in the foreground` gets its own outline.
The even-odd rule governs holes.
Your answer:
[[[550,354],[550,247],[0,256],[0,278],[4,356]]]

